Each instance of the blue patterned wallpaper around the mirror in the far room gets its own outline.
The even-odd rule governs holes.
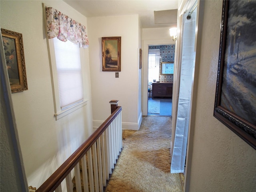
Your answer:
[[[148,46],[148,50],[152,49],[159,49],[160,62],[174,62],[174,52],[175,52],[175,45],[150,45]],[[159,69],[159,81],[160,82],[173,82],[173,75],[160,75]]]

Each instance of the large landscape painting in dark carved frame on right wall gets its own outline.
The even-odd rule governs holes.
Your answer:
[[[223,1],[214,116],[256,149],[256,1]]]

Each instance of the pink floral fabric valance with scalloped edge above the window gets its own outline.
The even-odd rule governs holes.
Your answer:
[[[70,40],[88,48],[89,42],[86,27],[72,18],[62,14],[52,7],[46,7],[47,36],[49,39],[57,37],[66,42]]]

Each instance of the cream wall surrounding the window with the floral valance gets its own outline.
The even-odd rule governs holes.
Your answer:
[[[44,2],[87,25],[86,17],[63,1]],[[1,0],[0,8],[1,28],[23,35],[28,90],[12,94],[12,100],[28,186],[38,188],[92,133],[91,101],[55,120],[42,1]],[[90,99],[88,49],[84,52]]]

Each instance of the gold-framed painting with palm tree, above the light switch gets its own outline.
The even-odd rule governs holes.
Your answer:
[[[102,71],[121,71],[121,37],[102,37]]]

